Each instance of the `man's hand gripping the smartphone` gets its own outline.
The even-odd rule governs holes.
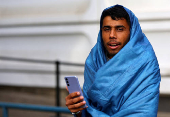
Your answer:
[[[67,89],[67,87],[66,87]],[[70,93],[66,98],[66,106],[67,108],[72,112],[76,113],[78,111],[82,111],[85,108],[82,108],[81,106],[85,105],[86,102],[83,101],[84,97],[80,96],[80,92],[74,92]],[[86,107],[87,108],[87,107]],[[79,114],[80,115],[80,114]]]

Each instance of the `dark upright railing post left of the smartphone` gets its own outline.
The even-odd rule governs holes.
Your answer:
[[[60,62],[56,61],[56,106],[60,106]],[[57,117],[59,117],[60,113],[57,113]]]

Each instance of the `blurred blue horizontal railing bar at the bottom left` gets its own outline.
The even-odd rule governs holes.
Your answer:
[[[44,106],[44,105],[31,105],[31,104],[0,102],[0,107],[22,109],[22,110],[70,113],[68,108],[65,108],[65,107],[54,107],[54,106]]]

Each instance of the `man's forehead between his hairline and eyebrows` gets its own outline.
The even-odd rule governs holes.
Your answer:
[[[111,16],[106,16],[104,19],[103,19],[103,26],[117,26],[117,25],[123,25],[125,27],[129,27],[126,19],[122,18],[122,19],[116,19],[116,20],[113,20],[111,18]]]

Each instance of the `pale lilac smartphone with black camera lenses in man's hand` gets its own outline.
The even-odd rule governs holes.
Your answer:
[[[65,79],[69,93],[80,92],[80,96],[83,96],[83,93],[82,93],[82,90],[79,84],[79,80],[76,76],[66,76],[64,79]],[[83,105],[81,108],[85,108],[85,107],[86,105]]]

